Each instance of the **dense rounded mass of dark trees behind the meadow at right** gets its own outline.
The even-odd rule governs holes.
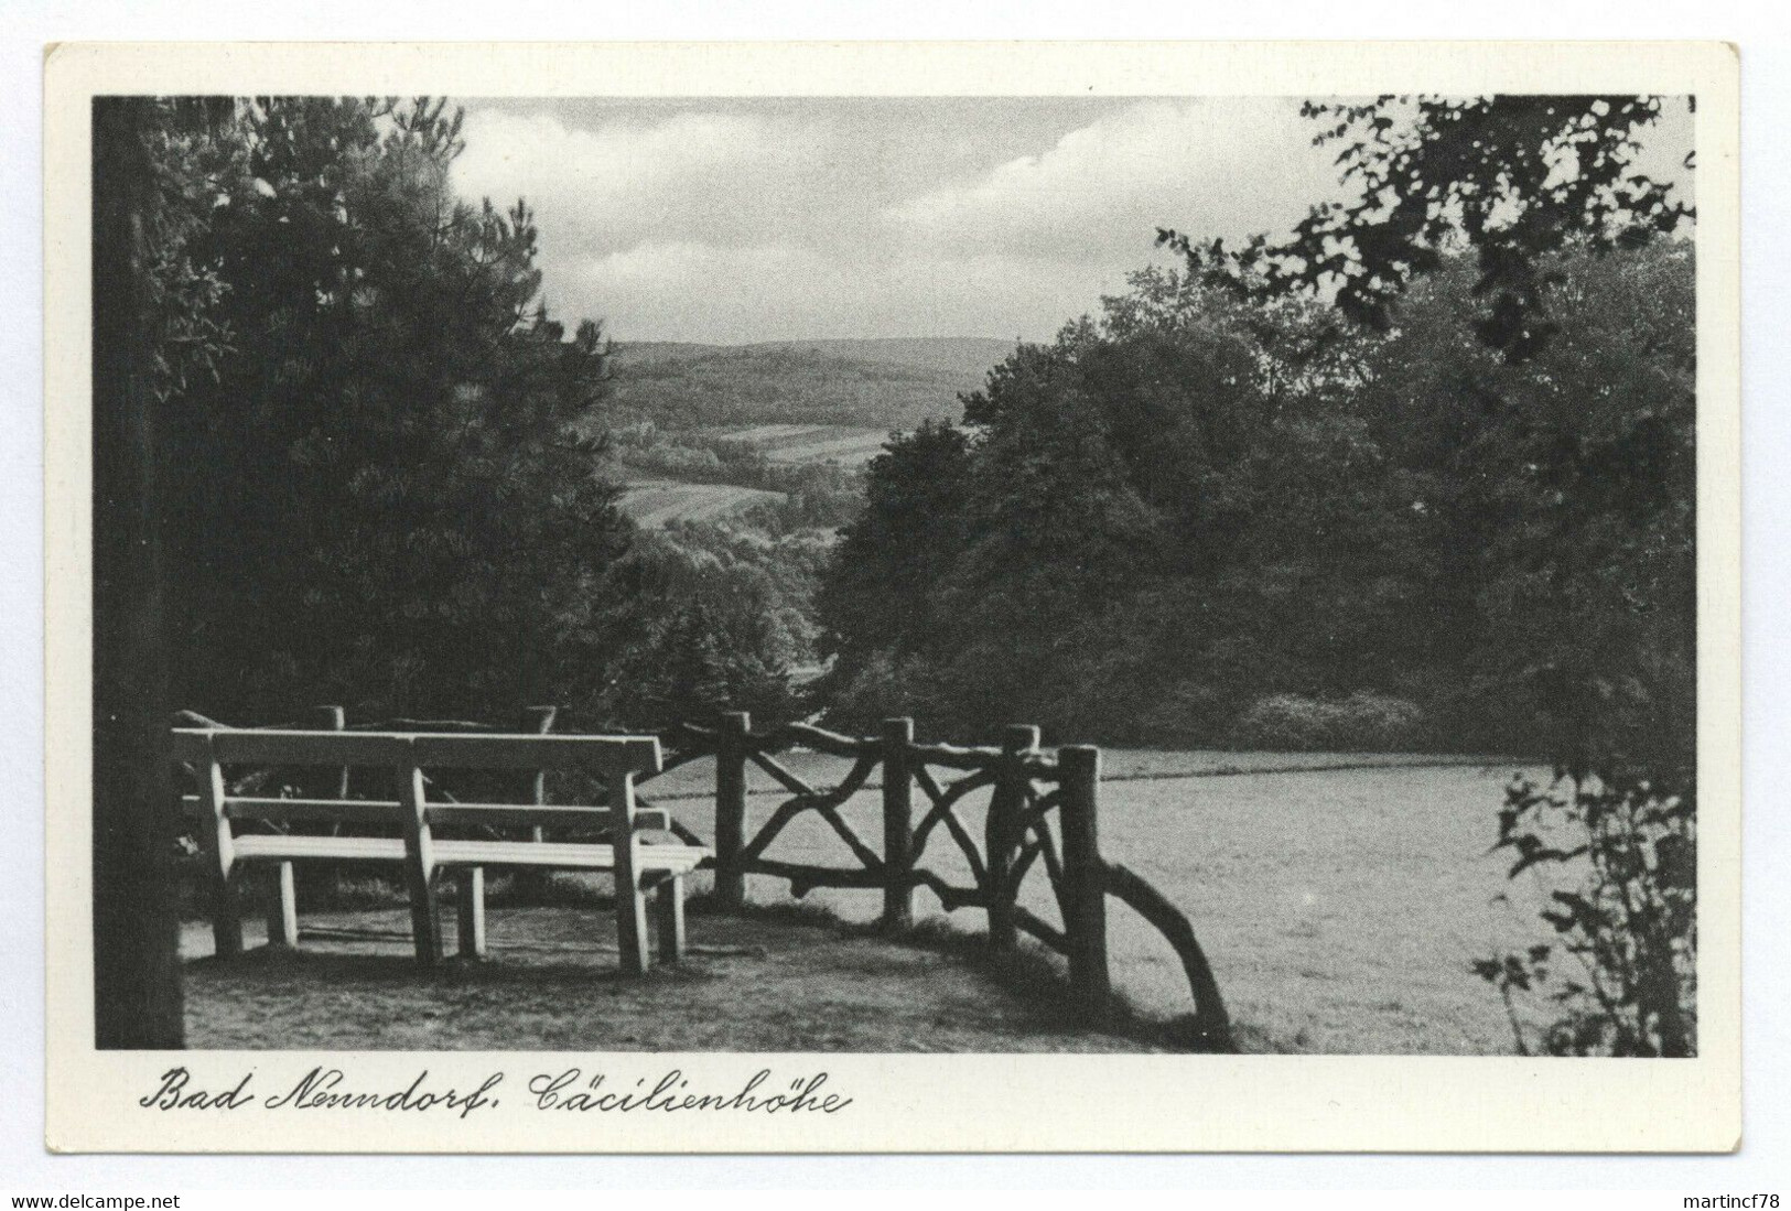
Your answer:
[[[838,717],[965,734],[1666,756],[1694,702],[1689,244],[1549,265],[1513,362],[1458,256],[1377,331],[1144,271],[870,464]]]

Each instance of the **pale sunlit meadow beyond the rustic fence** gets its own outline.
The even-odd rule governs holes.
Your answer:
[[[844,763],[790,754],[792,769],[831,783]],[[1436,758],[1368,754],[1105,752],[1101,851],[1155,883],[1193,921],[1247,1050],[1341,1053],[1510,1053],[1512,1032],[1490,985],[1469,964],[1528,946],[1546,932],[1537,890],[1508,883],[1508,858],[1488,856],[1510,765],[1415,765]],[[1329,769],[1173,777],[1186,770],[1402,763],[1404,769]],[[707,761],[647,786],[672,799],[679,819],[707,835],[711,808],[679,792],[707,785]],[[774,790],[770,779],[754,790]],[[919,799],[919,795],[917,795]],[[750,801],[759,822],[781,799]],[[981,833],[987,797],[958,815]],[[881,837],[879,799],[856,795],[844,812],[860,837]],[[851,865],[817,815],[795,822],[767,851],[793,862]],[[926,865],[967,881],[962,858],[935,831]],[[749,880],[754,898],[779,899],[779,880]],[[1510,894],[1512,905],[1494,903]],[[845,917],[878,912],[874,892],[817,890]],[[1042,872],[1023,903],[1057,923]],[[930,892],[917,915],[937,914]],[[967,930],[981,914],[956,914]],[[700,933],[693,933],[698,937]],[[1170,946],[1109,899],[1114,985],[1143,1012],[1180,1014],[1187,983]]]

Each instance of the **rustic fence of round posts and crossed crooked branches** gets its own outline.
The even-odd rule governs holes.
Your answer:
[[[548,733],[555,708],[528,708],[523,729]],[[183,724],[215,726],[188,715]],[[310,727],[347,727],[342,708],[319,708]],[[460,720],[380,720],[351,731],[476,733],[516,731]],[[913,923],[915,890],[928,889],[946,910],[981,908],[989,921],[994,953],[1014,951],[1019,933],[1028,933],[1064,955],[1069,987],[1078,1007],[1101,1014],[1112,996],[1107,955],[1107,901],[1128,905],[1155,926],[1180,958],[1193,998],[1195,1041],[1229,1050],[1230,1021],[1218,982],[1195,937],[1187,915],[1150,881],[1127,867],[1107,862],[1100,851],[1101,754],[1087,745],[1057,752],[1039,747],[1039,729],[1012,726],[999,745],[958,747],[917,743],[912,718],[885,720],[874,736],[845,736],[810,724],[783,724],[754,733],[745,713],[724,713],[715,726],[681,724],[659,736],[663,761],[657,774],[638,781],[641,808],[652,808],[650,786],[702,758],[715,758],[715,838],[707,840],[670,819],[672,833],[690,846],[713,847],[715,901],[722,910],[740,908],[747,876],[786,880],[801,898],[818,887],[879,890],[881,923],[903,930]],[[811,751],[849,761],[833,786],[815,786],[779,754]],[[788,797],[763,819],[750,812],[749,770],[758,769]],[[872,786],[872,777],[881,779]],[[267,777],[261,774],[260,777]],[[258,776],[251,776],[258,777]],[[860,837],[842,808],[860,792],[881,792],[881,838]],[[915,795],[919,792],[919,795]],[[344,770],[333,792],[349,797]],[[530,799],[546,803],[546,783],[534,776]],[[981,801],[980,819],[967,813]],[[797,817],[813,812],[844,842],[851,865],[815,865],[768,856],[777,837]],[[960,815],[965,813],[965,815]],[[546,840],[534,828],[534,840]],[[951,846],[962,856],[964,878],[926,863],[930,846]],[[1019,903],[1021,887],[1039,872],[1050,887],[1057,921]]]

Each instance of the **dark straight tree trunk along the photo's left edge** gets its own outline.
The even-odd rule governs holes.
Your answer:
[[[93,1041],[183,1044],[145,99],[93,102]]]

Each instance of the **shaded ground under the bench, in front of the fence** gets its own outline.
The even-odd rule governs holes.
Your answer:
[[[691,919],[704,953],[645,980],[616,971],[598,908],[494,908],[491,957],[417,971],[403,908],[313,914],[297,951],[219,964],[183,932],[193,1048],[604,1052],[1146,1052],[1078,1032],[1055,996],[1021,996],[933,948],[776,919]],[[251,930],[249,942],[258,939]],[[451,923],[450,923],[451,935]]]

